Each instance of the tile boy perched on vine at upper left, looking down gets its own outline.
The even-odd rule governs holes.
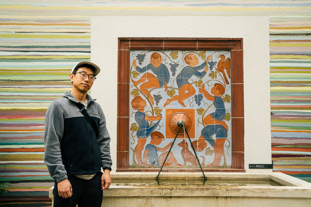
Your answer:
[[[147,66],[140,68],[136,65],[136,60],[133,60],[133,66],[139,73],[144,73],[147,70],[151,70],[156,76],[151,73],[145,73],[139,80],[133,81],[133,83],[137,86],[140,83],[143,83],[140,86],[140,90],[148,96],[149,88],[162,88],[163,84],[165,87],[164,91],[167,91],[167,83],[169,83],[169,70],[167,67],[162,64],[162,57],[159,53],[154,52],[150,57],[150,64]],[[149,99],[151,104],[153,105],[153,97],[149,94]]]

